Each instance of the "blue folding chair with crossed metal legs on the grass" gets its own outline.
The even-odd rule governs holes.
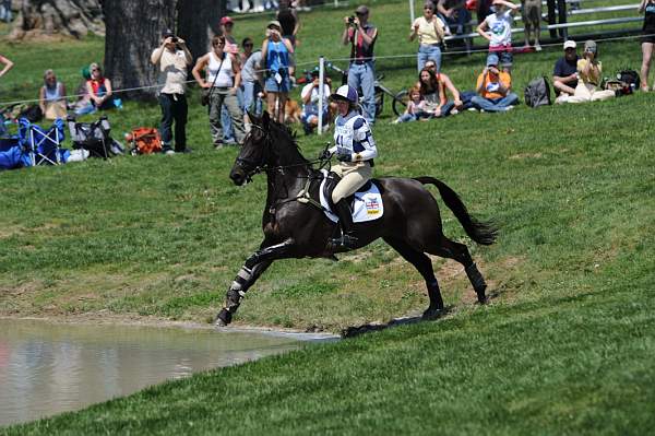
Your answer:
[[[27,118],[19,119],[21,144],[29,154],[32,166],[61,165],[64,163],[61,143],[64,140],[63,121],[55,120],[48,130],[33,125]]]

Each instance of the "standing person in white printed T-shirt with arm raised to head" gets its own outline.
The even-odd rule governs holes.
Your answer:
[[[489,57],[497,55],[504,72],[512,69],[512,23],[519,7],[511,1],[493,0],[496,12],[487,16],[477,32],[489,42]],[[509,8],[509,10],[507,10]]]

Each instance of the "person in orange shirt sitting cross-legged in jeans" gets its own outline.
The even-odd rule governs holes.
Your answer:
[[[498,56],[487,58],[487,68],[478,76],[478,95],[471,99],[473,107],[484,111],[497,113],[512,109],[519,103],[519,96],[512,91],[512,76],[498,69]]]

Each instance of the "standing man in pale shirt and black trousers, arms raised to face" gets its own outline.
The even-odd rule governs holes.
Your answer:
[[[153,50],[151,62],[159,69],[157,83],[163,85],[159,91],[159,106],[162,107],[162,142],[166,154],[184,153],[187,149],[187,96],[184,87],[187,82],[187,68],[191,66],[193,57],[183,39],[175,36],[172,31],[166,30],[162,34],[162,45]],[[171,127],[175,121],[175,151]]]

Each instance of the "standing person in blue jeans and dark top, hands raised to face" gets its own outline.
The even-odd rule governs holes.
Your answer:
[[[364,95],[364,118],[372,126],[376,121],[376,69],[373,48],[378,38],[378,30],[368,22],[369,10],[359,5],[355,10],[357,16],[345,16],[346,28],[342,43],[350,43],[350,66],[348,67],[348,85]]]

